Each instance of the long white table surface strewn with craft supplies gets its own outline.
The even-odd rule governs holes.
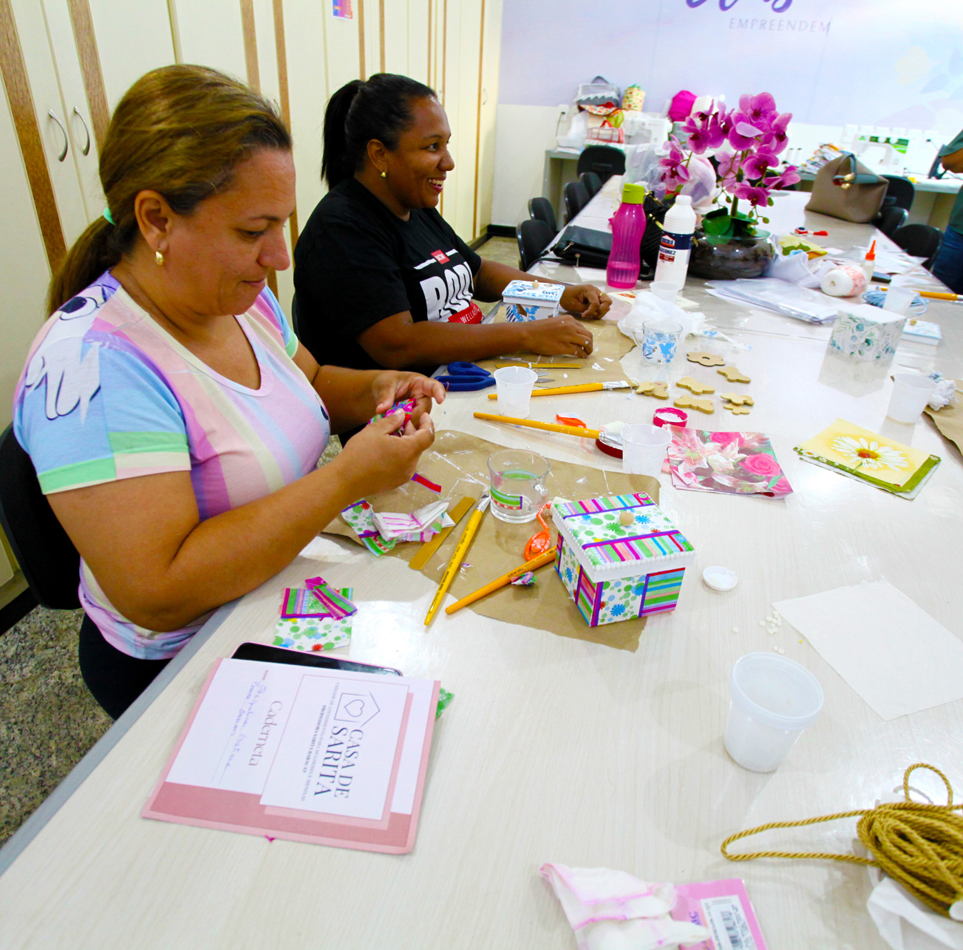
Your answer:
[[[580,224],[611,213],[613,188],[593,199]],[[800,198],[779,199],[787,219],[802,215]],[[837,247],[848,246],[838,236],[844,231],[850,244],[870,233],[808,218],[813,227],[828,223],[826,240]],[[649,881],[742,877],[770,950],[881,950],[865,909],[864,869],[732,864],[718,847],[733,831],[764,822],[872,806],[919,760],[963,790],[963,701],[884,723],[787,623],[775,636],[759,624],[775,600],[885,577],[963,633],[963,465],[927,420],[884,419],[892,385],[885,374],[857,382],[825,362],[827,328],[723,303],[700,287],[691,280],[686,296],[751,344],[734,361],[752,377],[746,388],[756,399],[751,415],[716,409],[706,425],[733,428],[738,418],[742,428],[768,433],[795,490],[780,501],[701,494],[677,491],[662,477],[662,506],[693,542],[696,562],[679,608],[649,620],[637,652],[470,610],[442,614],[426,630],[433,587],[425,577],[350,542],[323,541],[317,557],[299,558],[222,610],[179,672],[153,691],[159,695],[145,696],[14,839],[13,862],[0,878],[0,945],[568,950],[574,938],[538,876],[542,862],[557,861]],[[959,314],[952,304],[931,304],[927,318],[942,323],[943,344],[901,347],[898,363],[931,363],[963,377]],[[436,409],[436,425],[551,459],[617,465],[583,440],[472,417],[491,405],[484,393],[452,394]],[[591,425],[648,421],[665,404],[590,393],[533,405],[534,418],[562,412]],[[800,462],[793,446],[838,415],[944,462],[912,502]],[[708,565],[731,567],[739,586],[728,594],[707,588],[700,575]],[[352,659],[437,677],[455,694],[435,731],[413,853],[271,843],[142,819],[212,664],[245,640],[267,642],[281,588],[319,572],[353,586],[361,602]],[[557,583],[548,571],[540,582]],[[742,654],[773,646],[819,677],[825,705],[778,771],[756,775],[723,750],[727,677]],[[937,796],[927,778],[916,783]],[[853,827],[783,832],[768,844],[848,851]]]

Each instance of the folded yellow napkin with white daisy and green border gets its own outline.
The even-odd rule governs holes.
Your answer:
[[[820,435],[797,445],[795,451],[806,462],[907,497],[915,495],[941,461],[939,456],[876,435],[846,419],[837,419]]]

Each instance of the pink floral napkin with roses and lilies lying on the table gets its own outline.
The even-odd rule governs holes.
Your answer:
[[[676,488],[771,498],[792,493],[768,435],[668,428],[668,465]]]

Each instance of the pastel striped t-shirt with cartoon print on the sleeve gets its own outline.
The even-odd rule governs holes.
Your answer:
[[[298,339],[271,291],[236,317],[257,357],[256,390],[216,373],[104,274],[44,324],[13,399],[13,431],[44,494],[189,471],[201,520],[312,471],[325,407],[294,360]],[[122,617],[89,567],[80,602],[108,643],[166,659],[206,618],[173,632]]]

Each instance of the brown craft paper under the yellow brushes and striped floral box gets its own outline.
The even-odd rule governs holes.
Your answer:
[[[560,438],[570,436],[560,435]],[[434,445],[418,462],[418,471],[442,486],[442,497],[452,506],[465,495],[474,498],[488,488],[488,457],[501,452],[504,446],[495,445],[475,435],[466,435],[446,430],[438,433]],[[622,472],[605,472],[598,468],[573,465],[568,462],[550,460],[552,470],[546,479],[549,498],[559,495],[571,501],[593,498],[599,495],[614,495],[633,491],[644,491],[655,501],[659,500],[659,483],[645,475],[625,475]],[[376,495],[368,500],[378,512],[412,512],[438,495],[419,485],[409,482],[394,491]],[[468,523],[466,515],[445,539],[437,553],[429,561],[422,573],[432,581],[440,581],[445,567],[455,551],[455,544]],[[553,543],[558,532],[550,517],[546,518],[552,533]],[[541,530],[537,520],[525,524],[508,524],[500,521],[487,511],[481,519],[481,527],[472,541],[465,563],[472,567],[462,567],[455,577],[449,593],[460,599],[484,587],[496,577],[501,577],[514,567],[525,562],[523,551],[536,531]],[[326,528],[326,534],[341,535],[357,541],[357,536],[339,515]],[[360,543],[360,542],[359,542]],[[385,557],[400,557],[410,561],[421,547],[420,543],[408,542],[395,545]],[[372,555],[374,557],[375,555]],[[539,630],[551,630],[560,637],[574,637],[593,644],[604,644],[617,649],[638,649],[638,637],[645,626],[645,620],[622,620],[590,627],[583,620],[571,597],[565,591],[555,572],[555,567],[546,565],[535,572],[537,581],[533,587],[512,587],[508,585],[476,600],[464,610],[474,610],[482,617],[505,620],[508,623],[521,623]],[[457,619],[457,614],[451,615]],[[433,621],[435,624],[447,622],[443,611]]]

